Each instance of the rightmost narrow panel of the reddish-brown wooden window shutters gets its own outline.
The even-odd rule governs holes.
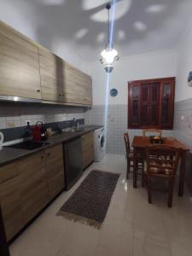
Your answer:
[[[161,126],[172,128],[175,80],[165,80],[161,85]]]

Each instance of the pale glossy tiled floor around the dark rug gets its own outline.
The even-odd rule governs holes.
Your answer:
[[[119,172],[107,217],[101,230],[56,216],[61,205],[93,169]],[[191,256],[192,201],[174,195],[172,209],[166,195],[154,193],[148,204],[146,190],[125,180],[125,157],[108,154],[94,163],[68,192],[51,206],[10,247],[11,256]]]

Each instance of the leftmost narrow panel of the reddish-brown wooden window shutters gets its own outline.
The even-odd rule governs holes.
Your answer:
[[[129,83],[128,125],[129,128],[140,125],[141,86],[139,83]]]

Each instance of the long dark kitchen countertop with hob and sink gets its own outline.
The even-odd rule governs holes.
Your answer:
[[[55,134],[46,140],[46,143],[49,143],[48,145],[42,148],[34,149],[34,150],[3,147],[3,149],[0,150],[0,166],[3,166],[5,164],[18,160],[22,157],[25,157],[26,155],[44,150],[45,148],[52,147],[55,144],[66,143],[70,139],[73,139],[75,137],[80,137],[85,133],[88,133],[90,131],[95,131],[96,129],[99,129],[102,127],[103,125],[84,125],[83,131],[64,131],[64,132]]]

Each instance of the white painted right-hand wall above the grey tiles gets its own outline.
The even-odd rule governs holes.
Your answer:
[[[192,71],[192,19],[186,26],[178,45],[177,82],[175,101],[180,102],[192,97],[192,88],[188,86],[188,74]]]

